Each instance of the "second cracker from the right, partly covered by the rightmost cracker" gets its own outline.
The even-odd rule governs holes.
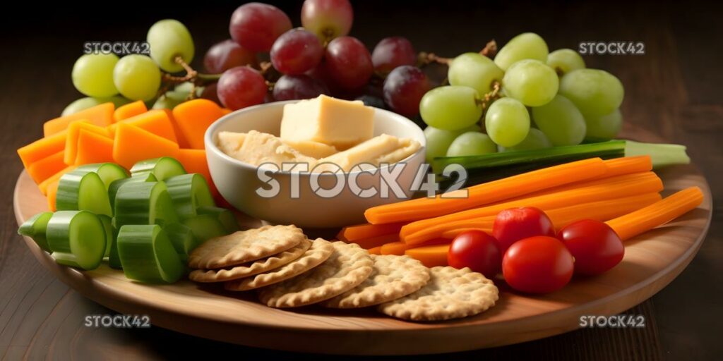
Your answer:
[[[429,269],[409,256],[371,255],[372,274],[353,290],[324,303],[330,308],[361,308],[396,300],[424,287]]]

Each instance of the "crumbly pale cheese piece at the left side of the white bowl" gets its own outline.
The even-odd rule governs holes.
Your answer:
[[[259,131],[248,133],[222,131],[218,134],[218,147],[226,155],[250,165],[272,162],[281,167],[285,162],[307,162],[311,169],[317,162],[315,158],[307,157],[283,144],[277,136]]]

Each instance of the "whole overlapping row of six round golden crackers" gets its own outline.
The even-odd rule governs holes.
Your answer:
[[[193,281],[258,290],[269,307],[374,306],[410,321],[473,316],[495,305],[498,295],[492,281],[470,269],[429,269],[408,256],[370,255],[354,243],[309,240],[294,225],[207,240],[190,254],[189,267]]]

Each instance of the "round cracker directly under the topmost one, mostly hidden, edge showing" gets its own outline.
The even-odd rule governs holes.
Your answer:
[[[224,282],[233,279],[253,276],[279,267],[301,257],[312,245],[310,240],[303,240],[295,247],[275,254],[268,258],[257,259],[247,264],[240,264],[228,269],[195,269],[188,278],[195,282]]]

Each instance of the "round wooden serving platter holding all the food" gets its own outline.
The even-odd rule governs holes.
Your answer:
[[[639,138],[639,137],[636,137]],[[78,271],[56,264],[30,238],[38,261],[85,297],[119,313],[148,315],[154,326],[252,347],[345,355],[412,355],[456,352],[525,342],[578,328],[581,316],[614,315],[643,302],[680,274],[698,252],[711,221],[711,192],[693,165],[658,173],[667,196],[689,186],[703,190],[698,209],[628,240],[623,262],[598,277],[573,277],[549,295],[512,292],[504,282],[500,300],[479,316],[411,323],[374,310],[268,308],[253,292],[226,292],[184,280],[171,285],[131,282],[106,264]],[[17,222],[47,209],[35,183],[21,173],[14,191]],[[254,219],[241,219],[257,225]]]

